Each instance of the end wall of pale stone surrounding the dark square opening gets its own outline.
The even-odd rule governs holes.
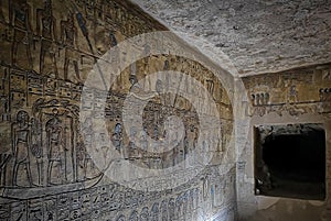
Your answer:
[[[238,107],[236,126],[248,128],[236,134],[237,203],[243,220],[330,220],[331,157],[331,65],[319,65],[284,73],[243,78],[247,100]],[[254,133],[258,125],[319,123],[325,130],[327,199],[296,200],[254,194]],[[284,153],[287,154],[287,153]]]

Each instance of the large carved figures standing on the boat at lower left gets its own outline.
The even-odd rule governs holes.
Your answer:
[[[75,189],[77,183],[93,184],[99,172],[86,151],[75,118],[68,110],[54,107],[33,117],[20,110],[8,137],[11,150],[1,153],[7,157],[0,158],[0,188],[64,185]]]

